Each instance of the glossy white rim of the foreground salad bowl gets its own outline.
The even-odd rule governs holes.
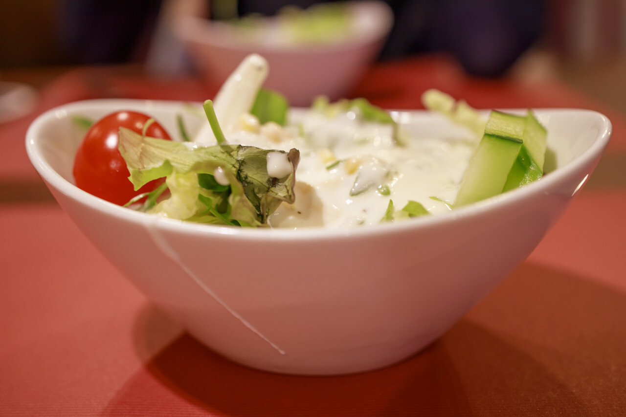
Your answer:
[[[540,180],[530,183],[525,187],[505,192],[495,197],[488,198],[486,200],[472,203],[466,207],[459,207],[451,210],[446,214],[421,216],[413,219],[405,219],[399,222],[388,222],[379,225],[371,225],[364,227],[305,227],[299,230],[293,229],[272,229],[272,228],[247,228],[247,227],[232,227],[226,225],[212,225],[212,224],[199,224],[193,222],[186,222],[184,220],[167,219],[158,215],[151,215],[142,212],[136,212],[120,205],[107,202],[101,198],[95,197],[88,192],[76,187],[73,183],[66,180],[60,173],[51,167],[46,158],[44,158],[41,150],[41,129],[46,123],[49,123],[51,118],[62,119],[68,117],[72,111],[78,109],[91,108],[91,110],[102,110],[103,115],[107,111],[120,110],[126,107],[139,107],[144,111],[150,111],[150,108],[167,108],[180,107],[183,101],[174,100],[138,100],[138,99],[95,99],[95,100],[82,100],[74,101],[73,103],[67,103],[65,105],[57,106],[50,110],[41,113],[28,128],[26,133],[26,150],[28,157],[31,160],[34,168],[36,168],[39,175],[43,180],[48,183],[49,187],[53,187],[58,192],[63,193],[69,198],[80,202],[83,205],[97,210],[105,215],[111,215],[113,217],[126,220],[128,222],[137,222],[143,225],[150,225],[151,227],[157,227],[162,230],[168,230],[173,232],[181,232],[184,234],[193,235],[215,235],[228,237],[230,239],[247,239],[247,240],[323,240],[323,239],[335,239],[335,238],[362,238],[366,235],[379,236],[394,233],[413,233],[421,229],[428,229],[431,227],[438,227],[441,224],[454,224],[455,222],[461,222],[465,219],[472,217],[478,217],[480,215],[489,214],[493,210],[507,209],[508,207],[515,206],[526,198],[531,198],[533,195],[540,195],[541,193],[550,193],[550,190],[556,188],[558,183],[567,182],[571,180],[578,170],[587,167],[595,160],[599,160],[603,150],[607,147],[612,134],[612,124],[608,120],[607,116],[595,110],[577,109],[577,108],[533,108],[533,111],[538,116],[550,115],[553,113],[586,113],[597,118],[600,130],[597,137],[593,140],[593,143],[588,147],[581,155],[573,158],[572,161],[565,164],[563,167],[556,168],[553,172],[546,173],[546,175]],[[188,102],[187,102],[188,103]],[[199,105],[199,103],[198,103]],[[131,109],[128,109],[131,110]],[[293,108],[295,112],[304,111],[304,108]],[[509,109],[497,109],[501,111],[510,111],[511,113],[520,113],[526,111],[523,108],[509,108]],[[403,114],[408,113],[409,116],[418,117],[434,117],[444,118],[441,115],[433,113],[428,110],[389,110],[392,113]],[[480,110],[481,113],[488,113],[490,110]],[[449,122],[448,122],[449,123]],[[582,178],[580,185],[574,190],[574,193],[582,187],[583,183],[588,178],[588,174]]]

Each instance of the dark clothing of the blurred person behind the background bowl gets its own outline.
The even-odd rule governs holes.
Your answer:
[[[80,63],[137,59],[161,0],[63,0],[61,39]],[[239,0],[240,16],[316,0]],[[452,54],[471,75],[503,75],[541,36],[545,0],[386,0],[394,28],[379,59]],[[143,48],[145,49],[145,48]]]

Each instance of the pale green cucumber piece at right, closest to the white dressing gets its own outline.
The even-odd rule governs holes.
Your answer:
[[[469,160],[454,207],[502,192],[522,147],[525,117],[491,111],[485,134]]]

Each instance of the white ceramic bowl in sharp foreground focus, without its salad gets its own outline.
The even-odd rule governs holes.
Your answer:
[[[182,103],[95,100],[39,116],[26,148],[78,227],[151,301],[213,351],[254,368],[342,374],[417,353],[520,264],[592,173],[611,125],[587,110],[537,110],[552,172],[449,214],[355,229],[237,229],[134,212],[73,185],[72,115],[149,113],[171,132]],[[398,112],[419,137],[457,135]],[[191,123],[191,121],[188,121]]]

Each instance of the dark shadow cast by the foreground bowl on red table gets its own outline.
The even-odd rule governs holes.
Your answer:
[[[605,311],[608,303],[621,306],[617,312],[613,309],[613,318],[626,317],[623,294],[569,272],[526,262],[505,280],[502,290],[496,289],[438,341],[395,366],[332,377],[272,374],[232,363],[182,332],[156,355],[142,358],[145,366],[126,381],[101,415],[592,415],[598,411],[590,411],[588,395],[593,393],[573,389],[572,378],[563,378],[536,354],[537,349],[550,351],[549,347],[537,348],[516,336],[515,329],[502,332],[480,319],[491,307],[505,306],[503,298],[513,293],[531,301],[533,314],[550,314],[555,309],[553,296],[563,286],[570,296],[566,313],[578,307]],[[529,298],[529,292],[544,296]],[[504,319],[508,317],[505,314]],[[140,357],[150,351],[145,346],[152,343],[151,329],[174,328],[151,305],[136,324],[133,336]],[[565,337],[581,330],[564,328]],[[598,334],[605,340],[596,342],[609,349],[626,346],[625,337],[602,329]]]

